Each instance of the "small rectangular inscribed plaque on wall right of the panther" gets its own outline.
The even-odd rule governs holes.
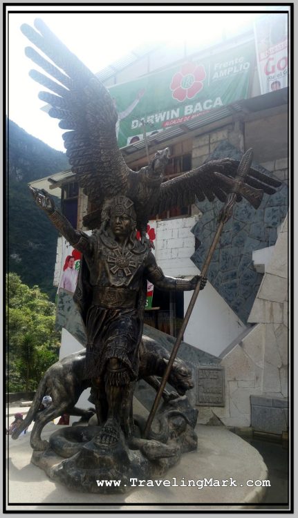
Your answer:
[[[224,387],[223,367],[196,367],[196,405],[225,406]]]

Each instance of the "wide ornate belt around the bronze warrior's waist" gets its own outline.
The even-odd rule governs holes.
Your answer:
[[[93,288],[92,304],[108,309],[131,309],[136,307],[137,291],[127,288]]]

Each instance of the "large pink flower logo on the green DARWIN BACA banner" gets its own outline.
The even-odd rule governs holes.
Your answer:
[[[177,72],[171,79],[172,97],[180,102],[186,98],[192,99],[202,90],[205,77],[205,66],[185,63],[180,72]]]

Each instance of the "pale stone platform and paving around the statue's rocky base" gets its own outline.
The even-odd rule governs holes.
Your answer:
[[[147,413],[137,401],[135,412]],[[55,430],[56,426],[48,423],[43,437]],[[8,510],[181,510],[181,505],[183,510],[254,508],[263,499],[266,488],[248,487],[246,481],[268,479],[259,452],[223,426],[199,425],[197,433],[197,452],[183,455],[178,466],[167,472],[163,479],[170,481],[168,486],[137,487],[127,495],[91,495],[68,490],[30,463],[30,433],[17,441],[8,437]],[[185,481],[196,483],[204,478],[232,478],[237,486],[199,489],[192,482],[183,486]]]

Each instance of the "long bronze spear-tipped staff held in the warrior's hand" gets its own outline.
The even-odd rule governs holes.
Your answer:
[[[232,189],[232,192],[228,195],[227,201],[225,202],[225,205],[223,206],[223,209],[221,209],[221,213],[218,217],[218,228],[216,230],[216,234],[214,236],[214,240],[212,241],[211,247],[209,248],[209,252],[207,254],[207,257],[205,259],[204,265],[201,270],[201,277],[205,277],[207,274],[207,269],[209,267],[209,264],[211,262],[214,250],[216,249],[216,244],[218,243],[219,238],[221,237],[221,232],[223,231],[223,226],[227,222],[227,220],[230,219],[233,211],[234,204],[236,203],[236,197],[237,193],[241,191],[241,186],[245,180],[245,176],[248,174],[248,171],[250,170],[250,166],[252,164],[252,148],[248,149],[246,153],[244,153],[243,157],[241,158],[241,162],[239,163],[239,167],[236,173],[236,178],[234,180],[234,188]],[[259,197],[261,192],[258,193]],[[194,309],[194,305],[196,303],[196,299],[198,297],[198,294],[200,293],[201,289],[201,282],[198,281],[198,284],[196,285],[196,288],[194,289],[194,293],[192,294],[192,299],[190,300],[189,306],[187,308],[183,324],[180,328],[180,331],[178,333],[178,336],[176,338],[176,343],[173,347],[173,350],[171,352],[171,356],[169,357],[169,363],[167,364],[167,368],[165,370],[165,374],[163,375],[162,381],[160,383],[160,387],[158,389],[158,392],[156,394],[156,399],[154,400],[153,406],[151,408],[151,411],[148,416],[148,420],[145,426],[144,430],[144,437],[147,438],[149,434],[149,430],[151,428],[152,421],[154,419],[154,416],[156,414],[156,410],[158,409],[158,405],[160,402],[160,398],[162,396],[162,392],[165,389],[165,385],[167,383],[167,380],[169,378],[169,373],[171,372],[171,367],[175,361],[176,354],[178,352],[178,348],[180,347],[181,340],[183,338],[183,334],[185,332],[186,326],[188,324],[189,318],[192,314],[192,310]]]

